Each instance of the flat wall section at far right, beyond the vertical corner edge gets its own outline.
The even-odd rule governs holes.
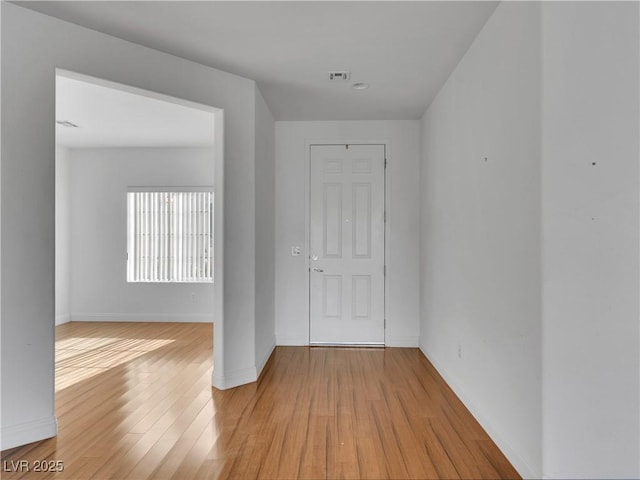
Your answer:
[[[542,7],[546,478],[640,477],[638,7]]]

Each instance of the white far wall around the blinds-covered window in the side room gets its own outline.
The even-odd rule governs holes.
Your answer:
[[[213,284],[127,283],[126,251],[127,188],[212,186],[213,149],[70,152],[71,319],[212,322]]]

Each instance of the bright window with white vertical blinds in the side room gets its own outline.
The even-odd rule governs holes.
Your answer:
[[[127,193],[127,281],[213,282],[213,192]]]

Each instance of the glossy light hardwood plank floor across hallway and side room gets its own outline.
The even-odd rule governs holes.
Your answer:
[[[3,479],[520,478],[417,349],[278,347],[218,391],[211,325],[56,333],[58,437],[3,452]]]

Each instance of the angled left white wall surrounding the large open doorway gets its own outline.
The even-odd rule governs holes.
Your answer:
[[[224,109],[224,168],[216,167],[215,178],[224,196],[216,201],[223,208],[216,226],[224,220],[216,278],[223,281],[214,284],[212,380],[222,388],[255,380],[255,343],[246,336],[255,328],[255,82],[14,4],[0,8],[2,448],[56,433],[56,68]],[[232,268],[220,271],[224,265]]]

